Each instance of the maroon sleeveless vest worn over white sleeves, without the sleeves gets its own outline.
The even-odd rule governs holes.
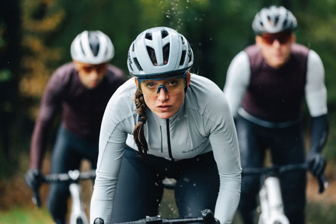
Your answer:
[[[245,49],[250,60],[251,80],[242,107],[259,119],[284,122],[298,119],[302,110],[309,49],[292,44],[288,62],[278,69],[269,66],[261,49]]]

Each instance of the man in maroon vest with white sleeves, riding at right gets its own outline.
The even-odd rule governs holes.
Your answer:
[[[308,162],[314,176],[326,161],[321,155],[328,133],[327,91],[319,55],[295,43],[297,21],[286,8],[262,8],[252,23],[255,45],[230,63],[224,93],[236,119],[242,168],[262,167],[269,148],[275,165]],[[307,156],[302,133],[302,102],[311,116]],[[290,223],[304,223],[306,175],[291,171],[280,176],[285,215]],[[258,176],[242,176],[239,211],[253,223]]]

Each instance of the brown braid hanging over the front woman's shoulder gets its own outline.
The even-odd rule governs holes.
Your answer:
[[[135,106],[136,106],[136,110],[137,113],[140,114],[145,114],[146,113],[146,103],[145,100],[143,98],[143,94],[140,93],[140,91],[137,89],[135,92]],[[140,153],[140,157],[142,159],[146,159],[146,155],[148,152],[148,144],[144,135],[144,131],[143,131],[143,125],[146,123],[146,119],[147,116],[143,115],[142,117],[140,117],[142,119],[144,119],[144,121],[139,121],[135,127],[134,127],[134,132],[133,132],[133,137],[134,137],[134,142],[136,144],[136,146],[138,147],[139,153]]]

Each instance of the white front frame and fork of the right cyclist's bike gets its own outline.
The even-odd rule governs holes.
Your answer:
[[[284,214],[284,206],[278,177],[267,177],[259,191],[261,214],[258,224],[289,224]]]

